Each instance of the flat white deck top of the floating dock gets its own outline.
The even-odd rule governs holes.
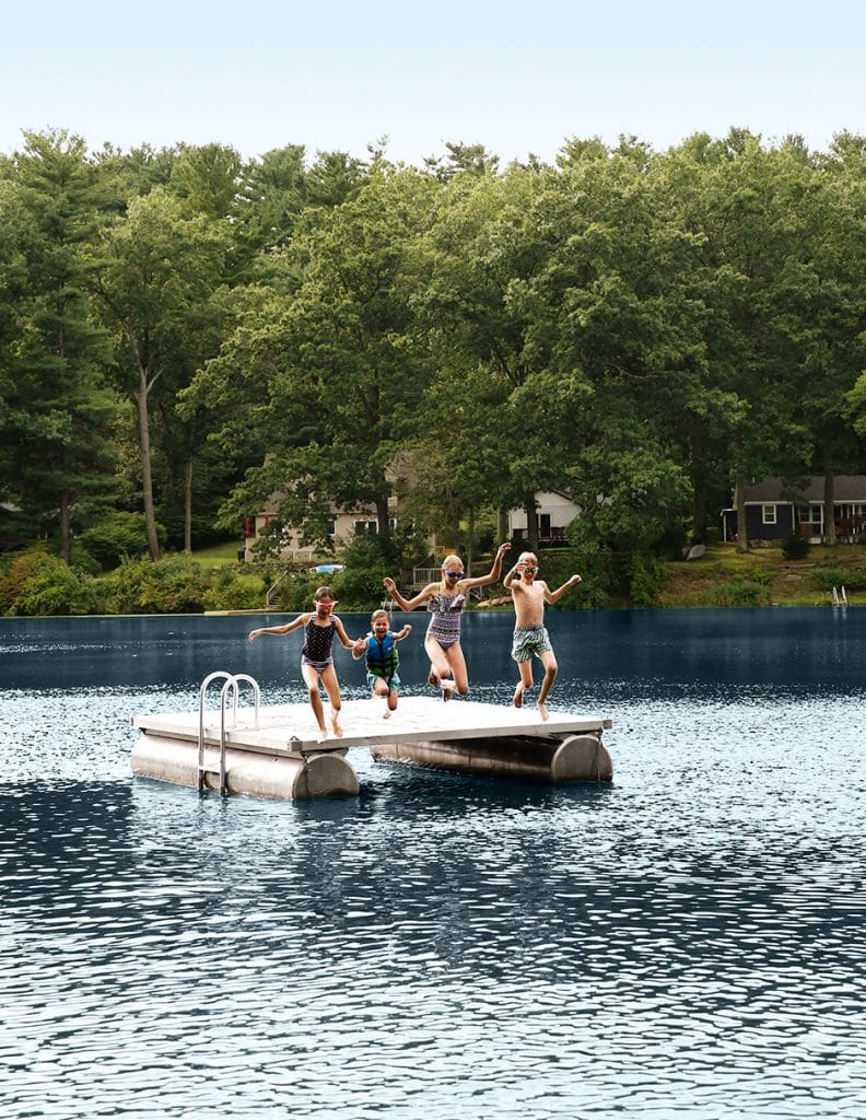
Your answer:
[[[534,704],[513,708],[457,699],[445,703],[432,697],[402,697],[389,719],[382,717],[383,710],[384,700],[344,701],[341,712],[343,737],[332,735],[319,743],[318,728],[308,703],[262,704],[258,727],[254,726],[251,704],[240,708],[236,724],[233,709],[229,707],[225,713],[226,745],[234,749],[280,756],[345,750],[347,747],[373,749],[394,743],[592,735],[612,726],[607,718],[560,711],[551,711],[550,719],[542,720]],[[327,704],[325,713],[327,717]],[[132,725],[149,735],[198,741],[197,711],[133,716]],[[204,726],[205,743],[218,746],[220,712],[206,711]]]

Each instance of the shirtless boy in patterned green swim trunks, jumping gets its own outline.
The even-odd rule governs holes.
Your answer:
[[[580,577],[571,576],[556,591],[551,591],[542,579],[536,579],[537,575],[538,559],[534,552],[521,552],[518,562],[503,579],[503,584],[511,591],[514,601],[515,625],[511,656],[520,670],[520,683],[514,689],[514,707],[522,706],[524,691],[532,688],[532,654],[534,654],[544,666],[538,710],[542,719],[548,719],[544,701],[557,679],[557,659],[544,626],[544,604],[556,603],[569,587],[580,582]]]

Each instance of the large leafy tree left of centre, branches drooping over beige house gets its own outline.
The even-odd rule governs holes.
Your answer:
[[[198,380],[213,407],[243,355],[255,386],[248,399],[258,396],[255,423],[267,435],[266,460],[248,472],[226,520],[278,493],[276,526],[325,541],[332,502],[370,504],[388,539],[391,468],[427,376],[411,299],[420,283],[415,245],[436,189],[382,165],[356,197],[320,212],[287,251],[287,290],[250,309]],[[234,411],[224,421],[220,438],[236,448],[248,418]]]

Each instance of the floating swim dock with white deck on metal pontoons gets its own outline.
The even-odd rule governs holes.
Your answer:
[[[248,679],[249,680],[249,679]],[[204,688],[204,687],[203,687]],[[308,703],[216,712],[133,716],[141,732],[132,772],[224,794],[276,800],[354,796],[358,781],[350,747],[382,762],[534,782],[609,782],[602,734],[611,720],[538,709],[432,697],[401,697],[389,719],[379,699],[346,700],[343,737],[319,741]],[[328,715],[328,707],[325,706]]]

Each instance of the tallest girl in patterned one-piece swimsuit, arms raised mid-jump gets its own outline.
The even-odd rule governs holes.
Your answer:
[[[469,674],[460,648],[460,618],[466,609],[466,595],[473,587],[487,587],[499,580],[502,558],[510,548],[508,541],[500,544],[493,567],[486,576],[467,576],[459,557],[446,557],[439,582],[428,584],[411,599],[403,598],[394,581],[385,577],[384,585],[401,610],[415,610],[422,603],[427,604],[430,624],[423,647],[430,659],[428,680],[434,688],[441,688],[443,700],[448,700],[454,691],[460,696],[466,696],[469,691]]]

